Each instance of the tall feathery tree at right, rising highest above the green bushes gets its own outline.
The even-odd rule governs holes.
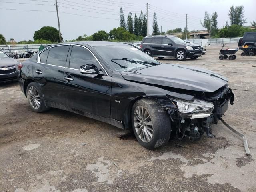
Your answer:
[[[230,25],[243,26],[243,24],[246,23],[246,19],[244,19],[244,6],[242,5],[236,7],[232,5],[228,12],[228,16],[230,19]]]

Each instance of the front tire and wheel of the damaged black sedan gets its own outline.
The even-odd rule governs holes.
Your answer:
[[[154,100],[136,101],[132,107],[131,121],[138,142],[147,149],[163,146],[170,139],[170,117]]]

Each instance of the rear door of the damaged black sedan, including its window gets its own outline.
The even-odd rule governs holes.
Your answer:
[[[63,70],[70,45],[58,45],[44,50],[33,65],[33,75],[41,86],[46,102],[64,104]]]

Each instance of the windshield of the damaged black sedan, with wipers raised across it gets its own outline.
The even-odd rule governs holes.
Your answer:
[[[94,49],[107,62],[112,70],[118,72],[137,70],[160,64],[160,62],[148,56],[146,53],[127,44],[120,43],[120,45],[114,46],[96,46]]]

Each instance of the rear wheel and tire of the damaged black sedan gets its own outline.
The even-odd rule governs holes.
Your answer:
[[[31,82],[27,87],[27,98],[30,108],[37,113],[49,110],[45,105],[40,86],[36,82]]]

